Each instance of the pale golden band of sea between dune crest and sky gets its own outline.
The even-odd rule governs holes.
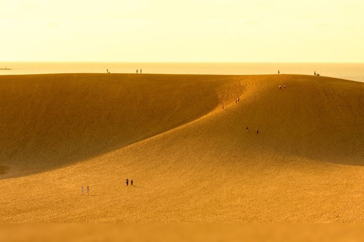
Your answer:
[[[201,62],[0,62],[0,75],[56,73],[148,73],[197,75],[299,74],[364,82],[364,63],[201,63]]]

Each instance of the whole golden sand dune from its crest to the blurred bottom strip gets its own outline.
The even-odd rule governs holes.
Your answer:
[[[364,222],[364,83],[0,76],[0,113],[1,223]]]

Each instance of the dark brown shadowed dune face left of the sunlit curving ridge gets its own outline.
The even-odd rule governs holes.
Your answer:
[[[163,133],[217,106],[204,76],[0,77],[1,178],[66,166]],[[16,168],[16,169],[13,169]],[[17,170],[17,172],[12,172]]]

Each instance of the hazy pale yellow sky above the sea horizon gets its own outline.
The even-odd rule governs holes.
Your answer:
[[[0,61],[364,62],[363,0],[1,0]]]

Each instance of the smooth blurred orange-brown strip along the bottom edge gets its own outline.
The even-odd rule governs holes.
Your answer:
[[[360,242],[355,224],[6,224],[6,242]]]

